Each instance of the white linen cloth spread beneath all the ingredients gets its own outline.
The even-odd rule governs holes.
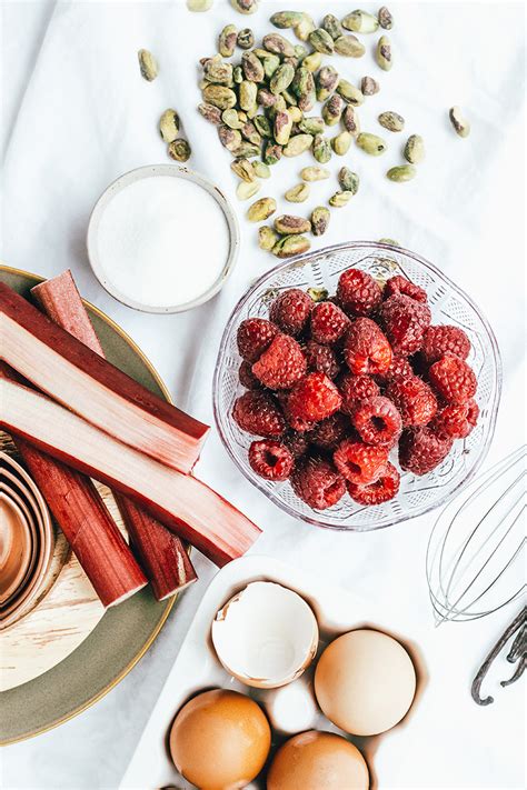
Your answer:
[[[211,379],[225,322],[249,283],[274,266],[257,248],[246,204],[236,201],[230,157],[213,127],[196,112],[199,58],[216,51],[223,24],[268,32],[269,16],[287,7],[316,19],[344,16],[349,2],[261,2],[251,17],[227,0],[192,14],[176,2],[41,2],[3,0],[1,258],[44,276],[71,268],[83,296],[139,343],[176,402],[212,424]],[[367,10],[377,6],[364,4]],[[390,143],[380,158],[355,147],[330,167],[350,164],[361,177],[351,203],[331,213],[324,244],[391,237],[428,258],[470,293],[490,320],[504,363],[504,392],[486,467],[523,441],[524,426],[524,4],[390,3],[394,69],[380,72],[367,54],[339,59],[354,81],[372,74],[381,92],[360,109],[366,130]],[[288,34],[286,32],[286,34]],[[137,50],[150,49],[158,79],[139,76]],[[240,51],[238,52],[240,54]],[[458,103],[473,124],[467,140],[451,130],[447,111]],[[131,168],[168,161],[157,133],[160,113],[173,107],[192,146],[192,168],[232,199],[242,246],[236,271],[208,304],[178,316],[149,316],[109,297],[88,264],[84,236],[100,192]],[[407,120],[396,137],[376,116],[396,110]],[[408,184],[387,181],[400,161],[406,132],[421,133],[427,158]],[[395,144],[394,144],[395,143]],[[276,166],[261,196],[281,196],[309,157]],[[312,188],[319,202],[328,190]],[[291,209],[280,200],[279,211]],[[299,212],[299,213],[300,213]],[[206,218],[196,217],[196,232]],[[320,243],[322,246],[322,243]],[[188,261],[191,266],[192,262]],[[511,619],[507,610],[469,624],[435,630],[424,557],[434,516],[366,534],[341,534],[297,522],[257,492],[228,459],[216,431],[199,474],[265,530],[256,551],[306,568],[331,583],[407,611],[410,636],[430,659],[440,693],[420,711],[422,731],[398,740],[392,787],[520,788],[524,786],[521,683],[477,708],[469,683],[487,650]],[[200,581],[178,604],[139,666],[93,708],[2,754],[6,788],[109,788],[119,783],[142,726],[173,661],[188,622],[215,569],[195,557]],[[508,677],[500,666],[493,680]]]

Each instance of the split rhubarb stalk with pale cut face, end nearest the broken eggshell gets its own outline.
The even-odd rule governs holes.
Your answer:
[[[0,378],[0,424],[44,452],[136,499],[218,566],[237,559],[260,530],[191,474],[122,444],[46,396]]]

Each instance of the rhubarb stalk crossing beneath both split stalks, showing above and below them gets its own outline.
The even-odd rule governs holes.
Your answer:
[[[71,272],[46,280],[31,289],[48,318],[73,334],[100,357],[105,356]],[[116,501],[130,536],[132,548],[161,601],[197,580],[188,552],[178,538],[150,513],[127,497]]]

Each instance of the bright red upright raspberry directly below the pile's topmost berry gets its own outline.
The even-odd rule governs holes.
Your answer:
[[[391,349],[375,321],[358,318],[348,329],[344,344],[344,358],[352,373],[382,376],[391,363]]]

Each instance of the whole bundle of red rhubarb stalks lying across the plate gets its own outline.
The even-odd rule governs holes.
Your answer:
[[[243,554],[259,529],[191,474],[208,426],[105,359],[69,271],[32,294],[43,312],[0,283],[0,426],[103,606],[195,581],[182,541],[218,566]],[[91,479],[113,491],[130,544]]]

